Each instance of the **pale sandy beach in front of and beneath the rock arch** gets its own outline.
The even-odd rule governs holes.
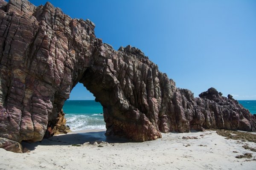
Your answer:
[[[162,139],[142,143],[106,138],[104,133],[99,130],[77,131],[42,142],[26,143],[24,146],[31,150],[30,153],[0,149],[0,169],[256,170],[256,161],[235,158],[243,153],[252,153],[252,159],[256,159],[256,152],[242,147],[244,144],[256,147],[255,143],[225,139],[215,131],[163,133]],[[198,139],[182,139],[183,136],[197,136]],[[103,147],[97,147],[98,144],[86,143],[97,139],[109,144],[102,143]]]

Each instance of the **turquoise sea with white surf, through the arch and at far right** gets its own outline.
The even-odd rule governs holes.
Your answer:
[[[256,100],[239,100],[250,113],[256,114]],[[102,105],[94,100],[67,100],[63,106],[66,125],[72,131],[84,129],[106,129]]]

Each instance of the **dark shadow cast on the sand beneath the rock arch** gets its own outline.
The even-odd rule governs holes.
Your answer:
[[[43,139],[40,142],[21,142],[23,148],[29,150],[35,150],[38,145],[72,145],[72,144],[84,144],[86,142],[104,141],[108,143],[126,143],[131,142],[125,138],[119,138],[116,136],[105,136],[105,131],[99,132],[86,132],[86,133],[70,133],[59,136],[52,136],[49,139]]]

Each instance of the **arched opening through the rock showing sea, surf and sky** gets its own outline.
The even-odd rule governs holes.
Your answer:
[[[106,129],[103,108],[81,83],[77,83],[63,105],[66,125],[70,130]]]

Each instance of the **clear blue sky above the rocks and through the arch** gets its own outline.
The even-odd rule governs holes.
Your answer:
[[[256,99],[256,0],[48,0],[96,24],[116,50],[140,48],[176,86]],[[30,0],[36,6],[46,0]],[[70,99],[94,99],[77,85]]]

